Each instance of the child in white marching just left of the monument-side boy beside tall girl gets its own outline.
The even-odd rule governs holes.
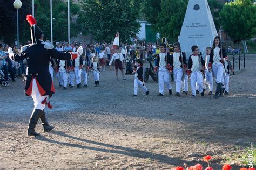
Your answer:
[[[203,75],[201,71],[204,70],[204,60],[199,55],[199,48],[198,46],[191,47],[193,54],[190,55],[188,59],[188,70],[187,74],[190,76],[190,83],[191,83],[191,90],[192,90],[192,97],[196,97],[196,83],[198,84],[198,90],[201,96],[204,96],[203,91]]]

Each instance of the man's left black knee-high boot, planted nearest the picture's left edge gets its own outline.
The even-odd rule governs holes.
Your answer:
[[[42,110],[40,109],[34,109],[32,112],[32,115],[29,119],[29,128],[28,128],[28,136],[39,136],[40,133],[37,133],[35,131],[36,128],[36,124],[38,119],[41,117],[42,115]]]

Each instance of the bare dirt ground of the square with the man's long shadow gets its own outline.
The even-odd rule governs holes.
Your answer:
[[[55,80],[53,109],[45,112],[56,128],[43,132],[39,121],[36,138],[26,136],[33,103],[18,78],[0,89],[0,169],[206,167],[207,154],[214,169],[225,162],[239,169],[242,152],[256,139],[255,65],[256,56],[247,56],[246,69],[232,75],[230,95],[218,100],[167,90],[158,97],[152,79],[146,83],[150,95],[139,88],[134,97],[133,76],[117,81],[109,69],[99,87],[92,74],[88,88],[64,91]]]

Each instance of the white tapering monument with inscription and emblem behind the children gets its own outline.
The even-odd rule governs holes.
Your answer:
[[[207,0],[190,0],[179,36],[182,51],[191,54],[191,47],[197,45],[203,52],[212,47],[215,36],[218,34]]]

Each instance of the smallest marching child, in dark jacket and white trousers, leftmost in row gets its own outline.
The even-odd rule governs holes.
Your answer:
[[[143,80],[143,62],[141,59],[135,60],[135,65],[137,68],[133,69],[134,74],[134,90],[133,90],[133,96],[138,95],[138,85],[143,88],[146,95],[149,95],[149,90],[147,90],[145,86],[145,82]]]

